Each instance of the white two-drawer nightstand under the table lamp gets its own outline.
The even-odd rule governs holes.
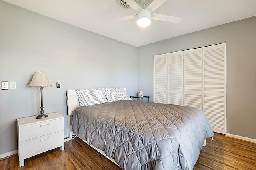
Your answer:
[[[64,118],[59,113],[47,115],[44,119],[36,116],[17,119],[20,167],[31,156],[57,147],[64,150]]]

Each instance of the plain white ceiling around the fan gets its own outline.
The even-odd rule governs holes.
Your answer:
[[[180,23],[152,20],[140,29],[116,0],[4,0],[71,25],[139,47],[179,35],[256,16],[256,0],[167,0],[154,13],[183,18]]]

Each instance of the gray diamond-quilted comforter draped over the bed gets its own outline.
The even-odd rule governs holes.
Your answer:
[[[214,135],[200,109],[134,100],[80,106],[72,129],[124,170],[192,170]]]

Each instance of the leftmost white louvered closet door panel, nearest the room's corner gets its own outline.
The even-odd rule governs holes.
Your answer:
[[[154,56],[154,102],[167,103],[167,54]]]

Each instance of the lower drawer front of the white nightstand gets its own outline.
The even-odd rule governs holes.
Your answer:
[[[35,154],[56,148],[64,143],[64,131],[44,135],[34,139],[20,142],[19,157],[30,157]]]

